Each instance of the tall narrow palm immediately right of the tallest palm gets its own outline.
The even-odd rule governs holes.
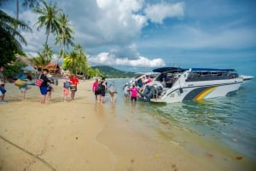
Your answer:
[[[65,47],[68,48],[69,45],[74,46],[73,30],[70,27],[71,25],[69,24],[67,17],[66,14],[59,14],[58,16],[59,27],[55,38],[55,44],[60,44],[59,58],[64,58]]]

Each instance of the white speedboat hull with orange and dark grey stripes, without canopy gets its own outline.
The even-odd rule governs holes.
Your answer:
[[[166,93],[151,102],[175,103],[186,100],[204,100],[234,94],[239,90],[241,78],[212,82],[184,83],[166,90]]]

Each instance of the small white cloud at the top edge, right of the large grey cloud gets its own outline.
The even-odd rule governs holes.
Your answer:
[[[148,20],[162,24],[163,20],[169,17],[182,17],[184,14],[184,3],[156,3],[148,5],[145,9]]]

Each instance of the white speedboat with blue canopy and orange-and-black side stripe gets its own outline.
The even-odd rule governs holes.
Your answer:
[[[144,100],[174,103],[234,94],[243,79],[234,69],[164,67],[154,82],[145,85]]]

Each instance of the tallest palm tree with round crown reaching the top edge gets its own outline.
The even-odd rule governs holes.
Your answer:
[[[57,8],[56,3],[48,4],[44,0],[42,0],[42,3],[34,9],[34,12],[40,15],[38,17],[38,22],[36,23],[36,25],[38,25],[38,30],[45,26],[45,44],[48,43],[49,33],[57,34],[57,31],[60,30],[60,24],[57,17],[60,11],[61,10]]]

